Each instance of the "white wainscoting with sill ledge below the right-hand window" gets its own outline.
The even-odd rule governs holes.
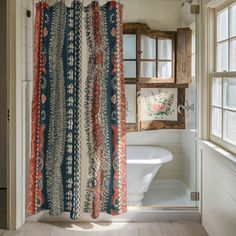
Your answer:
[[[209,236],[236,235],[236,157],[201,144],[202,222]]]

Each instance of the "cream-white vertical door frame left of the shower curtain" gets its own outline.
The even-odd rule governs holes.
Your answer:
[[[25,223],[25,160],[21,126],[21,5],[7,0],[7,229]]]

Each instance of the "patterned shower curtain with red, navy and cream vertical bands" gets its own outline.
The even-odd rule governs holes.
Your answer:
[[[85,104],[83,9],[89,50]],[[49,210],[78,219],[83,212],[98,218],[100,212],[126,211],[122,12],[116,1],[85,8],[79,0],[70,7],[64,1],[36,4],[29,215]],[[82,145],[89,150],[85,157]]]

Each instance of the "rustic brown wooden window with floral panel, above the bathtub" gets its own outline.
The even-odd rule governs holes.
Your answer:
[[[179,83],[176,76],[176,40],[185,39],[179,40],[178,68],[189,72],[190,29],[164,32],[140,23],[125,23],[123,29],[127,131],[184,129],[185,114],[178,106],[184,105],[190,79],[183,76]]]

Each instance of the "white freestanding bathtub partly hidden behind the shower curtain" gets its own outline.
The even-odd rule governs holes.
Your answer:
[[[159,168],[173,159],[170,151],[155,146],[127,146],[127,203],[142,205],[144,193]]]

